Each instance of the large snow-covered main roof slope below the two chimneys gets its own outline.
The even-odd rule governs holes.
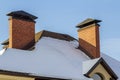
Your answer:
[[[77,41],[42,37],[32,51],[13,48],[0,51],[0,69],[46,77],[91,80],[85,77],[82,72],[83,62],[90,60],[90,58],[77,47]],[[108,63],[110,63],[109,60],[113,60],[116,62],[115,65],[120,64],[107,55],[102,55],[102,57]],[[94,63],[92,64],[94,65]],[[120,68],[111,63],[109,65],[116,74],[119,74]],[[87,70],[88,68],[86,68]]]

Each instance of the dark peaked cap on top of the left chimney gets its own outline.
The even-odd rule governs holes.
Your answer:
[[[23,18],[29,18],[31,20],[37,19],[36,16],[29,14],[23,10],[10,12],[7,14],[7,16],[14,16],[14,17],[21,17],[21,18],[23,17]]]

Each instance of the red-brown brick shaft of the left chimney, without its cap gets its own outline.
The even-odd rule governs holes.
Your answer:
[[[11,17],[9,24],[9,48],[23,49],[35,41],[35,22]]]

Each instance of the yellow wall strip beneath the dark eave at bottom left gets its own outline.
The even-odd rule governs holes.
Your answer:
[[[20,77],[20,76],[0,74],[0,80],[35,80],[35,79],[30,77]]]

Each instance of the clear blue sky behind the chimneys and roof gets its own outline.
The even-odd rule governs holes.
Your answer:
[[[76,39],[78,23],[86,18],[102,20],[101,52],[120,61],[120,0],[0,0],[0,43],[9,37],[6,14],[17,10],[38,17],[36,32],[49,30]]]

